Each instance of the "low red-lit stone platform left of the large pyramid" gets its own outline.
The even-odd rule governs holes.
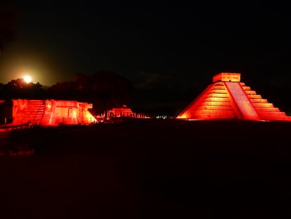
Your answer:
[[[13,125],[77,125],[96,123],[92,104],[64,100],[13,99]]]

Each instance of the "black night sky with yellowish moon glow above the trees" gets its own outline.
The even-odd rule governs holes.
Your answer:
[[[251,88],[270,87],[266,95],[290,90],[287,3],[12,2],[20,13],[18,36],[0,54],[1,82],[26,71],[34,82],[53,85],[76,73],[112,70],[149,92],[183,95],[204,89],[213,75],[236,72]]]

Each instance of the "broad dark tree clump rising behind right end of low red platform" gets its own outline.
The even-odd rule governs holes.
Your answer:
[[[77,73],[74,82],[58,82],[48,92],[54,99],[90,102],[96,114],[130,105],[134,96],[131,82],[108,70],[98,70],[93,75]]]

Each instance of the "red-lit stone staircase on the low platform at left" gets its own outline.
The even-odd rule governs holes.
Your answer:
[[[44,100],[28,100],[27,107],[21,116],[21,124],[27,123],[41,123],[45,111]]]

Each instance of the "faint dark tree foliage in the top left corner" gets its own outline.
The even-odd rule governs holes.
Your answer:
[[[15,40],[15,30],[13,25],[18,14],[11,9],[11,1],[0,1],[0,51],[6,48],[6,45]]]

